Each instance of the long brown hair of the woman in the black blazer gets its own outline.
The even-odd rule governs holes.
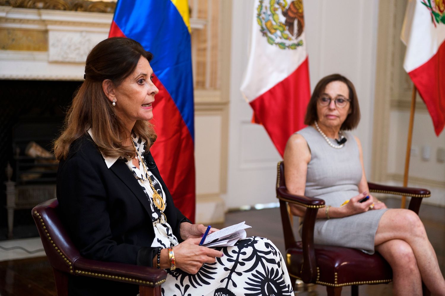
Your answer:
[[[85,81],[75,93],[61,136],[54,142],[54,154],[58,160],[66,159],[73,141],[82,137],[89,128],[94,142],[105,156],[132,158],[136,155],[133,146],[122,145],[128,131],[105,96],[102,82],[110,79],[118,86],[134,71],[142,56],[149,62],[153,58],[141,44],[129,38],[105,39],[93,47],[86,58]],[[156,140],[154,129],[147,121],[136,121],[132,132],[146,139],[147,147]]]

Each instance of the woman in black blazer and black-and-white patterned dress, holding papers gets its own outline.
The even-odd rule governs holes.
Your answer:
[[[158,93],[151,59],[138,42],[121,37],[101,41],[87,57],[85,82],[54,144],[57,200],[74,244],[86,258],[167,269],[164,295],[291,295],[271,241],[238,241],[221,258],[223,252],[199,246],[206,227],[174,206],[150,154]],[[137,293],[137,285],[69,278],[70,295]]]

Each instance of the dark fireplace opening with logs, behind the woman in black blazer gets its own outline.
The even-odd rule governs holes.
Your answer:
[[[0,240],[38,236],[31,209],[40,200],[55,197],[57,162],[50,153],[51,143],[80,85],[79,81],[0,80]],[[11,182],[16,199],[13,218],[7,203]]]

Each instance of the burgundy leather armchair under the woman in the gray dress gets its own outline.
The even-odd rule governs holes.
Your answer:
[[[411,196],[409,209],[418,214],[423,197],[431,193],[427,189],[384,186],[368,183],[369,191]],[[318,209],[324,208],[323,199],[293,195],[287,191],[284,180],[284,163],[278,163],[277,198],[286,249],[286,265],[289,275],[305,283],[326,286],[328,296],[340,296],[344,286],[352,286],[351,294],[358,295],[358,285],[383,284],[392,281],[392,269],[379,253],[365,254],[356,249],[327,245],[314,245],[314,225]],[[295,241],[287,203],[304,206],[302,241]],[[424,295],[429,295],[424,287]]]

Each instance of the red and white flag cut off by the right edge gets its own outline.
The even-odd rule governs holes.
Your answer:
[[[445,126],[445,0],[410,0],[401,39],[403,67],[413,80],[439,136]]]

